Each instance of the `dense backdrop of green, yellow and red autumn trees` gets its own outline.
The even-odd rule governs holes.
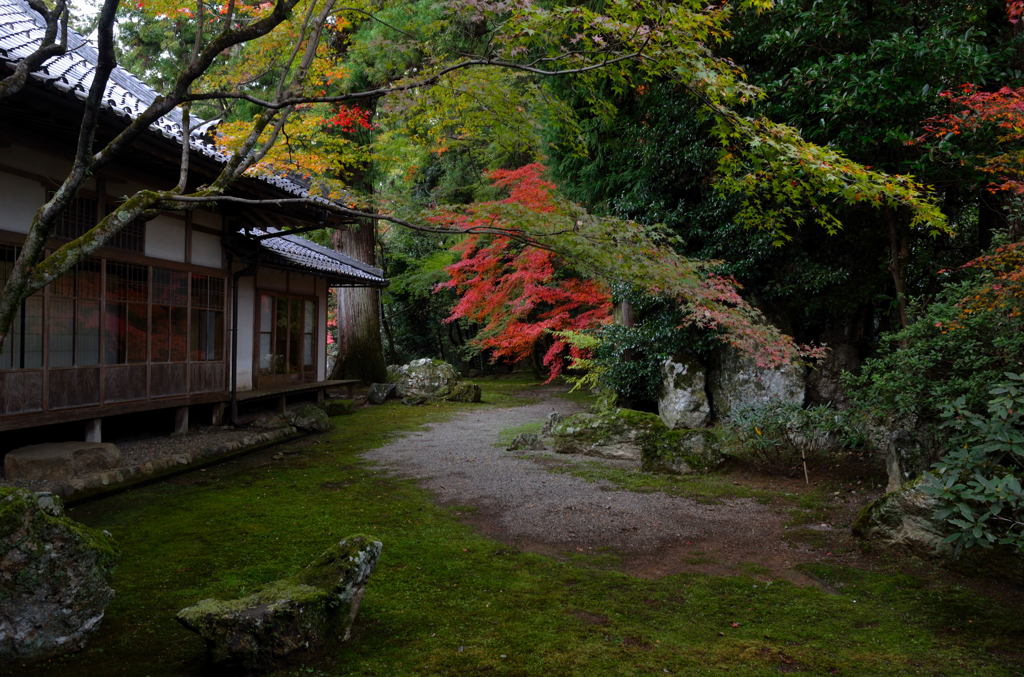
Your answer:
[[[122,65],[172,83],[191,14],[119,11]],[[304,162],[388,215],[313,236],[391,281],[342,302],[335,376],[424,356],[568,371],[652,411],[667,358],[796,359],[808,405],[898,422],[948,460],[935,491],[968,545],[1024,543],[1020,3],[338,12],[305,94],[337,94],[330,117],[296,107],[260,166]],[[213,82],[269,91],[286,46],[247,44]],[[453,66],[474,58],[500,68]],[[195,111],[230,147],[261,108]],[[380,341],[349,335],[376,307]]]

